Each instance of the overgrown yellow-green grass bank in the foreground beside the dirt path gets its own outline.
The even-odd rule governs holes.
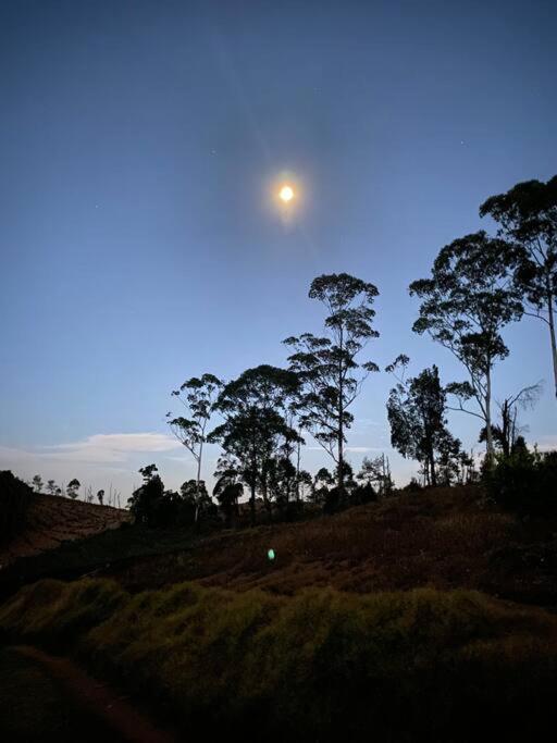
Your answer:
[[[163,702],[188,740],[517,740],[553,716],[557,618],[475,592],[183,583],[132,596],[45,581],[0,609],[0,627],[74,636],[84,658]]]

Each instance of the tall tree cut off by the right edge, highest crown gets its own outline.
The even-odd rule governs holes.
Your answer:
[[[525,314],[545,322],[549,331],[557,396],[557,175],[547,183],[527,181],[480,207],[500,225],[499,235],[518,248],[513,277],[527,302]]]

